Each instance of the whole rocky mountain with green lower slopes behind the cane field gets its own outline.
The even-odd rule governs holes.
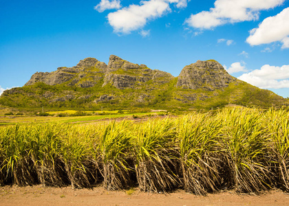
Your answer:
[[[36,72],[23,87],[6,90],[0,104],[22,108],[216,108],[226,104],[282,106],[288,100],[229,75],[215,60],[187,65],[180,76],[111,55],[75,67]]]

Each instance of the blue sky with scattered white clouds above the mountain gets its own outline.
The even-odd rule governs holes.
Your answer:
[[[1,1],[0,93],[36,71],[109,55],[178,76],[215,59],[289,97],[288,0]]]

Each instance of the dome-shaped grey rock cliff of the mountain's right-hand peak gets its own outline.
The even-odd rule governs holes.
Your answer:
[[[237,78],[229,75],[219,62],[198,60],[182,69],[176,87],[213,91],[238,81]]]

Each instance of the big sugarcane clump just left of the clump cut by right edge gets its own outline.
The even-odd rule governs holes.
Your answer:
[[[270,149],[261,111],[233,109],[224,110],[220,115],[223,115],[225,129],[223,144],[227,181],[236,192],[266,190],[270,187],[267,181]]]

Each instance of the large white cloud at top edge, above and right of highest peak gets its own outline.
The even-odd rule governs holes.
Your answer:
[[[131,4],[126,8],[109,13],[107,19],[109,24],[114,27],[114,32],[129,34],[144,27],[147,21],[171,12],[170,3],[174,3],[177,8],[184,8],[187,0],[140,1],[140,5]]]

